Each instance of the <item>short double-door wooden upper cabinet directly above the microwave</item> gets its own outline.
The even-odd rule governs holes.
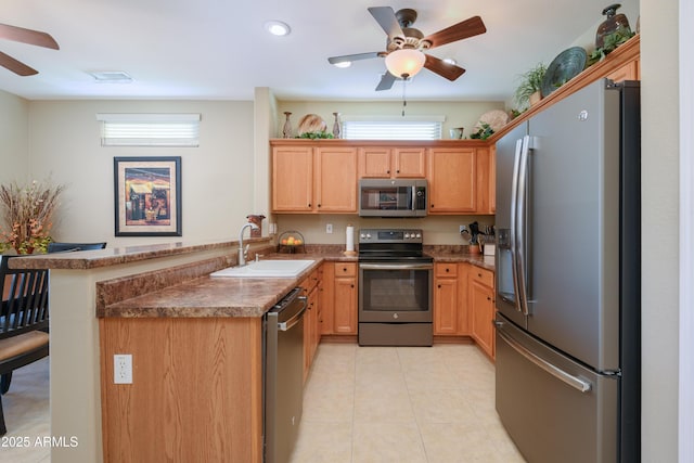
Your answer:
[[[364,146],[359,149],[360,178],[424,178],[426,149]]]

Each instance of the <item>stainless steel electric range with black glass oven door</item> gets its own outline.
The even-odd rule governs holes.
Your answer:
[[[359,345],[430,346],[434,259],[422,230],[359,231]]]

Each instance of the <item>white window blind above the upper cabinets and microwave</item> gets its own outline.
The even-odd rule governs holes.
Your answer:
[[[347,140],[440,140],[444,116],[376,118],[343,116],[343,138]]]

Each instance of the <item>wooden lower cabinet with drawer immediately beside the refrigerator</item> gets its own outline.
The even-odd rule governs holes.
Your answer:
[[[470,311],[472,336],[477,345],[494,358],[494,287],[493,272],[480,268],[470,272]]]

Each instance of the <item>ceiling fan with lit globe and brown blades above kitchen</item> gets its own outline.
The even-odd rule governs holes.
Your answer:
[[[410,27],[416,20],[416,11],[414,10],[402,9],[395,12],[390,7],[372,7],[368,10],[388,35],[386,51],[333,56],[329,57],[327,61],[331,64],[344,65],[358,60],[385,57],[388,72],[381,78],[376,90],[388,90],[393,87],[396,79],[401,78],[407,80],[422,67],[426,67],[448,80],[452,81],[458,79],[465,73],[465,69],[426,54],[423,50],[430,50],[435,47],[474,37],[487,31],[481,17],[473,16],[425,37],[419,29]],[[406,54],[409,54],[409,56],[406,56]],[[406,67],[398,68],[395,62],[404,63],[406,59],[409,59],[410,62],[406,63]],[[412,61],[414,61],[414,67],[408,67],[407,64],[412,64]]]

